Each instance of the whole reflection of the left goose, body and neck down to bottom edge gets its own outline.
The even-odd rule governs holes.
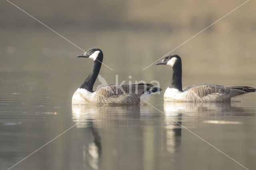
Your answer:
[[[137,106],[118,105],[72,105],[72,121],[79,131],[78,139],[82,148],[82,162],[84,168],[101,169],[102,166],[102,137],[100,131],[111,127],[132,127],[134,121],[140,121],[140,108]],[[143,110],[143,109],[142,109]],[[106,136],[103,136],[104,139]],[[103,142],[103,143],[106,143]],[[106,145],[106,144],[105,144]],[[105,148],[106,149],[106,148]],[[109,150],[116,154],[118,150]],[[89,168],[89,169],[90,169]]]

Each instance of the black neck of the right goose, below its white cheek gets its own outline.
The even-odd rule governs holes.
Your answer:
[[[178,89],[182,91],[182,66],[181,63],[177,63],[172,67],[172,80],[169,86],[170,88]]]

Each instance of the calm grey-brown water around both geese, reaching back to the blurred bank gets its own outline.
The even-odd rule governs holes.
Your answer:
[[[163,91],[152,95],[150,105],[72,106],[92,60],[77,58],[83,51],[48,30],[2,30],[0,169],[18,162],[11,169],[255,169],[256,93],[241,103],[164,103],[171,68],[152,65],[142,71],[176,46],[166,42],[179,44],[181,35],[170,40],[168,32],[60,32],[84,50],[103,50],[103,63],[113,69],[102,65],[107,83],[116,83],[118,75],[119,83],[158,81]],[[256,87],[250,42],[222,48],[214,37],[198,37],[175,51],[182,57],[184,87]]]

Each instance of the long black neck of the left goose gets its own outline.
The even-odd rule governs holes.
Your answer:
[[[102,55],[102,54],[99,53],[99,55]],[[93,85],[98,77],[99,72],[100,72],[100,67],[101,67],[101,63],[103,60],[103,56],[99,57],[99,55],[98,55],[97,59],[94,61],[90,75],[86,78],[84,83],[80,86],[81,89],[86,89],[90,92],[93,92],[92,88],[93,88]]]

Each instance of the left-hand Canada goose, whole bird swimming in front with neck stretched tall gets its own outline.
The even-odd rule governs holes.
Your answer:
[[[137,104],[141,99],[148,99],[152,93],[161,91],[162,89],[151,84],[129,83],[129,84],[110,84],[94,87],[100,67],[103,60],[103,52],[98,48],[88,49],[87,52],[77,57],[90,58],[94,60],[92,71],[82,85],[76,90],[72,97],[72,104]]]

